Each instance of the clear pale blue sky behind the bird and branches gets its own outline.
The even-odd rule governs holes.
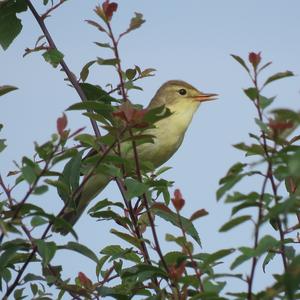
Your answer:
[[[127,28],[134,12],[143,13],[146,19],[139,30],[129,34],[120,44],[123,68],[138,65],[157,70],[156,76],[140,83],[143,92],[134,91],[130,94],[134,103],[147,105],[159,86],[171,79],[185,80],[201,91],[220,95],[218,101],[201,105],[183,145],[166,163],[172,169],[165,177],[175,181],[171,191],[180,188],[186,199],[183,213],[190,216],[200,208],[209,212],[207,217],[196,222],[203,244],[203,249],[198,251],[212,252],[220,248],[252,245],[253,228],[250,222],[229,233],[218,233],[222,224],[229,220],[231,212],[229,205],[216,201],[218,181],[233,163],[245,160],[242,153],[232,145],[241,141],[249,142],[248,133],[257,132],[253,121],[255,110],[242,91],[250,86],[249,79],[230,54],[247,58],[249,52],[261,51],[265,62],[273,62],[265,76],[285,70],[299,74],[300,2],[117,2],[119,9],[112,22],[115,32],[122,32]],[[47,20],[55,43],[75,74],[79,74],[83,65],[95,57],[110,57],[109,52],[93,44],[94,41],[105,42],[104,35],[84,22],[86,19],[97,20],[93,13],[96,4],[96,1],[91,0],[67,1]],[[37,7],[43,12],[42,6]],[[41,31],[29,12],[21,14],[20,18],[24,26],[21,35],[7,51],[0,50],[0,85],[10,84],[19,88],[1,97],[0,102],[0,123],[5,126],[1,138],[6,138],[8,144],[0,155],[2,175],[14,169],[13,160],[20,161],[22,156],[32,155],[33,142],[46,141],[56,130],[56,119],[72,103],[79,102],[75,91],[63,80],[65,75],[59,68],[53,69],[45,63],[40,53],[22,57],[25,48],[34,46]],[[116,83],[117,76],[111,68],[97,66],[92,69],[89,81],[105,86],[109,82]],[[270,85],[265,93],[267,96],[277,96],[274,107],[298,109],[299,91],[299,76],[295,76]],[[86,126],[86,132],[91,132],[89,123],[80,113],[68,112],[67,116],[71,129]],[[260,181],[251,180],[239,185],[241,190],[253,190],[260,186]],[[115,184],[110,184],[101,194],[101,199],[106,197],[121,199]],[[37,204],[43,201],[42,205],[53,211],[58,211],[61,205],[54,190],[32,201]],[[95,222],[85,215],[75,229],[80,242],[99,253],[99,249],[104,246],[119,243],[109,233],[112,225]],[[174,229],[165,223],[160,226],[164,226],[159,230],[163,248],[175,250],[174,245],[163,242],[165,232]],[[272,232],[268,227],[264,231]],[[60,239],[60,242],[70,239],[71,237]],[[66,276],[74,278],[77,272],[83,271],[95,279],[93,264],[87,259],[62,252],[55,258],[55,263],[62,260]],[[261,265],[258,269],[261,269]],[[247,264],[240,269],[241,272],[247,270]],[[275,259],[269,271],[280,272],[280,261]],[[259,271],[254,284],[255,290],[272,282],[270,272],[262,276]],[[245,285],[235,281],[229,287],[231,291],[245,289]]]

